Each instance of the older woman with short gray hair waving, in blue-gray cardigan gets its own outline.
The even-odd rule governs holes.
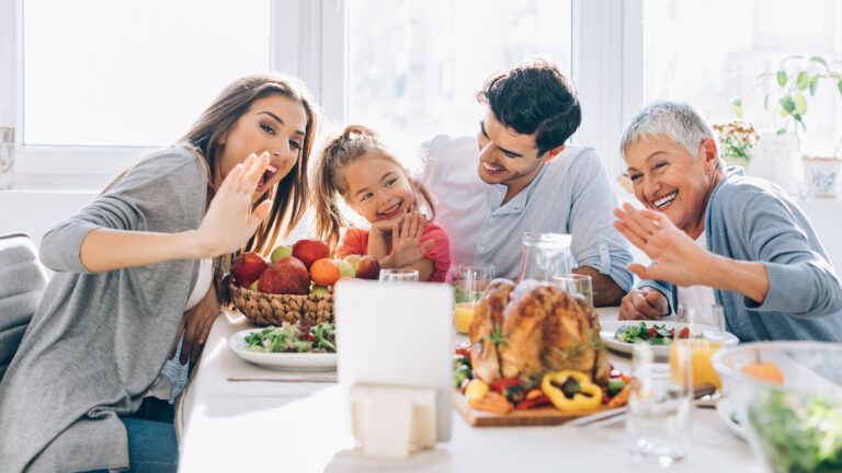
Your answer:
[[[678,304],[722,305],[741,341],[842,339],[842,286],[800,208],[777,186],[724,169],[710,127],[690,105],[657,102],[626,128],[621,152],[635,196],[614,226],[651,259],[619,319]]]

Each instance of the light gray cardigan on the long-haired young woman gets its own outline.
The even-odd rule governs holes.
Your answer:
[[[198,262],[92,274],[79,251],[96,228],[198,228],[205,175],[186,149],[162,150],[44,235],[41,259],[57,273],[0,382],[0,471],[128,466],[117,416],[137,411],[161,372]]]

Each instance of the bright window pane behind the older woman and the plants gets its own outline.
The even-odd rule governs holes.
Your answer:
[[[714,122],[733,118],[730,101],[739,97],[746,119],[775,129],[774,99],[766,112],[758,76],[790,55],[842,59],[842,3],[835,0],[646,0],[644,24],[646,102],[685,101]],[[803,151],[827,154],[841,138],[838,94],[827,81],[809,101]]]

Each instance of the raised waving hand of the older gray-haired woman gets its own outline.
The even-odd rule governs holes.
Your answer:
[[[640,279],[665,280],[678,286],[709,286],[709,273],[717,257],[701,249],[661,212],[638,210],[629,204],[614,209],[614,228],[652,261],[633,263],[628,269]]]

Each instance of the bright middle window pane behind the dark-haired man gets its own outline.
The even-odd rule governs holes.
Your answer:
[[[349,2],[349,118],[430,138],[476,134],[486,79],[531,57],[571,69],[571,1]]]

